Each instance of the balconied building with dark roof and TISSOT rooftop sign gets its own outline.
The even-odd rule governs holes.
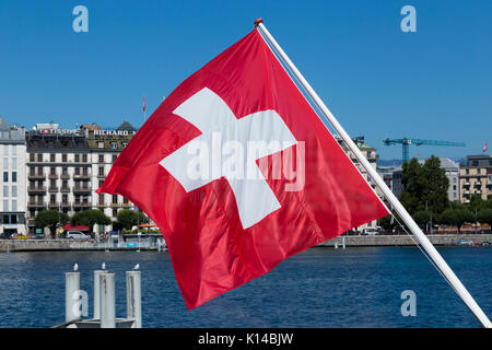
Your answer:
[[[91,158],[86,131],[36,124],[25,132],[27,228],[46,209],[69,215],[92,208]]]

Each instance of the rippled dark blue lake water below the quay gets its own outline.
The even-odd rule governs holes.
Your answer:
[[[440,248],[492,316],[492,248]],[[0,254],[0,327],[49,327],[65,320],[65,272],[79,264],[90,295],[92,272],[116,272],[117,316],[126,315],[125,271],[142,271],[144,327],[478,327],[418,248],[312,248],[204,305],[188,311],[169,256],[156,252]],[[400,294],[417,294],[403,317]]]

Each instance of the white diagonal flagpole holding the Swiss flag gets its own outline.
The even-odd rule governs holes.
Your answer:
[[[490,319],[487,317],[487,315],[483,313],[483,311],[480,308],[480,306],[477,304],[477,302],[473,300],[473,298],[467,291],[465,285],[456,277],[455,272],[453,272],[453,270],[449,268],[449,266],[446,264],[446,261],[443,259],[443,257],[440,255],[440,253],[436,250],[436,248],[432,245],[432,243],[429,241],[429,238],[425,236],[425,234],[423,234],[423,232],[420,230],[419,225],[413,221],[412,217],[410,217],[410,214],[407,212],[407,210],[400,203],[398,198],[395,197],[395,195],[388,188],[388,186],[383,180],[383,178],[377,174],[376,170],[374,170],[374,167],[371,166],[367,159],[362,154],[362,152],[359,150],[359,148],[355,145],[355,143],[352,141],[352,139],[349,137],[349,135],[345,132],[345,130],[342,128],[342,126],[338,122],[338,120],[335,118],[335,116],[331,114],[331,112],[328,109],[328,107],[325,105],[325,103],[321,101],[321,98],[318,96],[318,94],[313,90],[313,88],[309,85],[309,83],[306,81],[306,79],[303,77],[303,74],[297,70],[297,68],[291,61],[289,56],[283,51],[283,49],[280,47],[280,45],[277,43],[277,40],[270,34],[270,32],[268,32],[268,30],[266,28],[266,26],[263,25],[262,22],[263,21],[261,19],[256,20],[255,27],[260,32],[263,39],[267,38],[269,44],[271,44],[271,46],[273,46],[277,54],[282,58],[282,60],[289,67],[289,69],[294,74],[294,77],[297,79],[297,81],[306,90],[306,92],[308,93],[311,98],[313,98],[316,106],[321,110],[323,116],[333,127],[333,129],[338,132],[338,135],[343,139],[343,141],[349,147],[350,151],[355,155],[355,158],[361,163],[361,165],[365,168],[365,171],[371,176],[371,178],[376,183],[376,185],[383,191],[386,199],[395,208],[396,212],[400,215],[400,218],[403,220],[403,222],[410,229],[411,233],[419,241],[422,248],[426,252],[426,254],[432,259],[432,261],[435,264],[437,269],[442,272],[443,277],[449,282],[449,284],[453,287],[455,292],[459,295],[459,298],[461,298],[464,303],[473,313],[473,315],[482,324],[483,327],[492,328],[492,324],[491,324]],[[268,42],[267,42],[267,44],[268,44]]]

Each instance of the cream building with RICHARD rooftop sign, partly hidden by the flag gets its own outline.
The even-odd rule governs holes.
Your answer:
[[[131,138],[137,132],[137,129],[127,120],[114,130],[104,130],[95,124],[83,125],[81,128],[87,132],[87,144],[91,151],[91,185],[93,188],[92,207],[93,209],[101,209],[115,222],[119,210],[138,210],[138,208],[122,196],[108,194],[98,195],[95,190],[103,185],[113,163],[128,142],[130,142]],[[109,226],[106,226],[104,228],[104,231],[107,232],[109,229]]]

